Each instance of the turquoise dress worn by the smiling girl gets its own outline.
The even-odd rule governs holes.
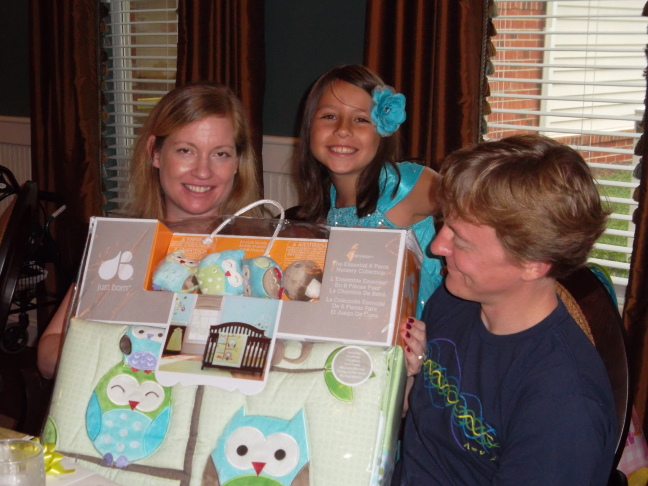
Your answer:
[[[432,292],[441,283],[441,260],[430,253],[430,243],[435,236],[434,220],[432,216],[414,223],[412,226],[397,226],[392,223],[385,213],[396,206],[405,197],[412,192],[412,189],[419,180],[424,167],[413,162],[401,162],[398,164],[400,172],[400,184],[398,184],[398,173],[391,164],[383,165],[380,173],[380,196],[376,210],[362,218],[358,218],[355,206],[344,208],[335,207],[337,192],[335,186],[331,184],[331,209],[326,217],[327,224],[331,226],[361,226],[365,228],[385,228],[411,229],[416,235],[421,250],[423,250],[423,263],[421,265],[421,278],[419,285],[419,295],[416,306],[416,317],[420,318],[423,313],[425,302],[432,295]],[[394,188],[398,184],[396,195],[392,197]]]

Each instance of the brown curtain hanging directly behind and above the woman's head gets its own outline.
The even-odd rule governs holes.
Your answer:
[[[258,0],[179,0],[178,86],[216,81],[229,86],[248,110],[263,183],[264,9]]]

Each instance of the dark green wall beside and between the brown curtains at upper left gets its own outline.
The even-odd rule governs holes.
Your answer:
[[[263,131],[296,136],[300,103],[317,77],[362,62],[365,0],[264,1]],[[0,0],[0,116],[29,116],[28,3]]]

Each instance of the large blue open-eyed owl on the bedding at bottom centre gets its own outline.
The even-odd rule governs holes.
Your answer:
[[[241,408],[218,438],[203,484],[308,486],[309,463],[303,410],[282,420]]]

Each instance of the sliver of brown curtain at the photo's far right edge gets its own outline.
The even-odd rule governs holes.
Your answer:
[[[648,16],[648,3],[644,7],[643,15]],[[648,46],[646,54],[648,56]],[[644,132],[648,126],[648,85],[645,100],[647,104],[644,107],[642,121]],[[628,331],[634,404],[646,433],[648,432],[648,168],[646,167],[648,140],[645,133],[637,144],[635,154],[641,156],[637,169],[640,173],[640,185],[634,193],[634,199],[638,203],[632,217],[636,230],[623,317]]]

